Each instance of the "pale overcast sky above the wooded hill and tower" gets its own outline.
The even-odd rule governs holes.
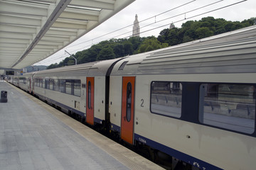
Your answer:
[[[90,48],[102,40],[111,38],[129,38],[132,35],[132,25],[135,15],[138,15],[140,36],[157,37],[161,30],[169,28],[171,23],[181,28],[186,21],[198,21],[201,18],[213,16],[227,21],[243,21],[256,17],[255,0],[136,0],[119,13],[109,18],[97,28],[83,35],[63,50],[56,52],[35,65],[50,65],[59,63],[78,51]],[[127,28],[125,28],[127,27]],[[119,30],[120,28],[124,28]],[[114,30],[115,31],[112,33]],[[108,35],[105,35],[110,33]],[[105,36],[102,36],[105,35]],[[100,37],[100,38],[99,38]]]

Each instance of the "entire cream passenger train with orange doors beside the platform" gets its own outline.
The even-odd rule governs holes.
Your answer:
[[[11,84],[168,155],[172,169],[254,169],[256,26],[22,76]]]

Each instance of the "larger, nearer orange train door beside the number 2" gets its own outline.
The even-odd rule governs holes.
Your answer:
[[[133,144],[135,77],[122,78],[121,139]]]

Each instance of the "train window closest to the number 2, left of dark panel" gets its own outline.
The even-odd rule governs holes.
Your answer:
[[[152,81],[151,113],[181,118],[182,84],[172,81]]]

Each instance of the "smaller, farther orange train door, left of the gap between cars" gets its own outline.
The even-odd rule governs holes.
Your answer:
[[[94,77],[86,78],[86,122],[94,124]]]

